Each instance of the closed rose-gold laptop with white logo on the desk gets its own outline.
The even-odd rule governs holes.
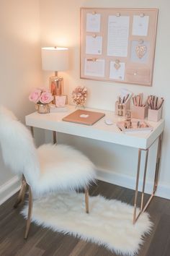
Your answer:
[[[105,116],[104,113],[78,109],[68,116],[65,116],[63,121],[71,121],[76,124],[92,125],[99,121],[99,119],[102,119],[103,116]]]

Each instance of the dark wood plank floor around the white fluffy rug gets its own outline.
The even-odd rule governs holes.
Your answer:
[[[134,191],[113,184],[98,182],[90,189],[90,195],[104,195],[133,205]],[[17,195],[0,206],[0,255],[1,256],[115,256],[104,247],[84,242],[73,236],[31,225],[28,239],[23,239],[25,221],[19,210],[14,209]],[[148,207],[154,223],[150,236],[146,236],[138,256],[170,255],[170,200],[154,197]]]

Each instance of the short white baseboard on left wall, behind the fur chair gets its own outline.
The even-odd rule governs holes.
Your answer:
[[[14,176],[8,182],[0,186],[0,205],[3,204],[9,197],[12,197],[20,188],[21,179],[18,176]]]

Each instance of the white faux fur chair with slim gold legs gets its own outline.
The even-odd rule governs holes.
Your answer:
[[[32,216],[32,194],[44,195],[59,189],[85,189],[86,213],[89,213],[88,187],[94,181],[94,165],[78,150],[66,145],[42,145],[35,148],[30,131],[11,111],[0,108],[0,145],[4,163],[16,174],[23,174],[22,189],[15,204],[24,199],[29,186],[29,208],[24,238]],[[27,183],[26,183],[27,182]]]

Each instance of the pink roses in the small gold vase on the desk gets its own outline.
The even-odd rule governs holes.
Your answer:
[[[53,101],[53,95],[45,89],[37,88],[29,95],[29,100],[34,103],[48,104]]]

